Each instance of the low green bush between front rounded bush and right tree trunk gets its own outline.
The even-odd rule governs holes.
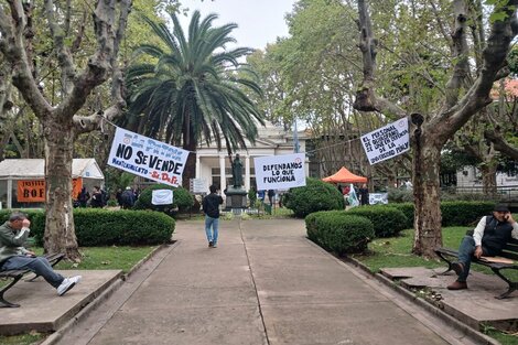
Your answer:
[[[358,215],[373,223],[376,237],[395,237],[407,228],[407,216],[393,207],[387,205],[373,205],[354,207],[348,214]]]

